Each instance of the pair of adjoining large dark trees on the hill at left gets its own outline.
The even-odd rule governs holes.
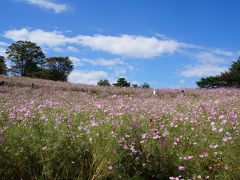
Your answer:
[[[12,62],[11,72],[15,75],[67,81],[73,70],[69,57],[45,59],[42,49],[30,41],[17,41],[6,50]]]

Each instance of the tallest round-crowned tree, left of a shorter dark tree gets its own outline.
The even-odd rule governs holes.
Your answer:
[[[13,64],[11,71],[21,76],[34,76],[45,61],[42,49],[30,41],[17,41],[11,44],[7,48],[6,54]]]

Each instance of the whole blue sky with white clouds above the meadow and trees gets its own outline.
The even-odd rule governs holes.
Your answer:
[[[0,55],[17,40],[69,56],[69,81],[195,87],[240,56],[238,0],[1,0]]]

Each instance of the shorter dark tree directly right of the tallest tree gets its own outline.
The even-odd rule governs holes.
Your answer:
[[[67,81],[73,70],[73,63],[69,57],[50,57],[46,61],[47,79]]]

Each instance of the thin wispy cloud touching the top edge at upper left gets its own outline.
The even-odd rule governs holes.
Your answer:
[[[69,11],[70,7],[66,4],[56,3],[53,0],[22,0],[28,4],[38,6],[43,9],[54,11],[55,13],[61,13]]]

